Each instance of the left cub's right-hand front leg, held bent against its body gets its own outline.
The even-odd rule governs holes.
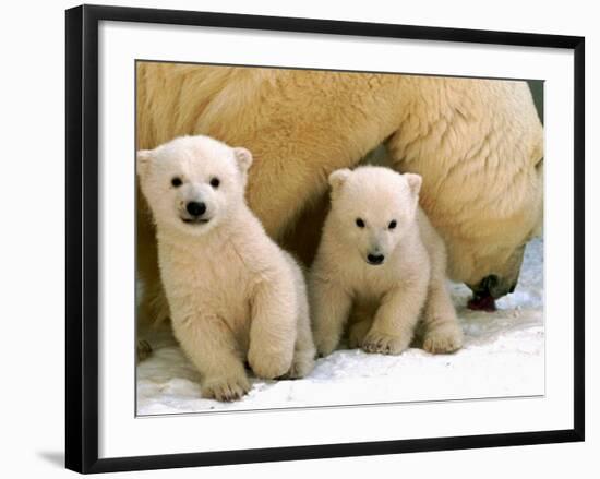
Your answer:
[[[261,282],[252,298],[248,362],[261,378],[290,370],[297,336],[298,298],[290,275]]]

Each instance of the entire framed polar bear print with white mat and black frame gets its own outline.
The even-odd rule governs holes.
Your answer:
[[[68,10],[67,467],[583,441],[584,45]]]

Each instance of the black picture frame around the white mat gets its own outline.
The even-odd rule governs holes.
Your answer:
[[[574,428],[556,431],[98,458],[98,23],[144,22],[572,49],[575,56]],[[65,465],[79,472],[584,441],[585,39],[578,36],[82,5],[67,10]]]

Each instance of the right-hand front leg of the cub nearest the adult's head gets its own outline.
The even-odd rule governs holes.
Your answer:
[[[427,282],[403,284],[382,299],[373,325],[362,340],[367,352],[399,355],[412,340],[421,308],[425,301]]]

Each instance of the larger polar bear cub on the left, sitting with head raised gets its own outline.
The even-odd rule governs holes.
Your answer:
[[[137,153],[173,333],[203,396],[218,400],[249,391],[244,360],[266,379],[314,366],[303,274],[244,200],[251,164],[248,149],[208,136]]]

